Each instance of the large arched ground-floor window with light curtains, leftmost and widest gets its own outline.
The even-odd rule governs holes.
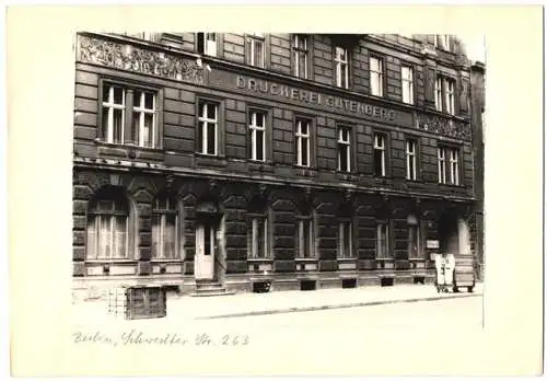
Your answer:
[[[88,212],[88,259],[129,258],[129,203],[115,187],[100,190]]]

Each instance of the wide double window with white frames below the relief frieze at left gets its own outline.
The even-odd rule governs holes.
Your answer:
[[[102,138],[108,143],[132,142],[139,147],[158,148],[158,92],[103,84]],[[127,117],[126,109],[130,109]]]

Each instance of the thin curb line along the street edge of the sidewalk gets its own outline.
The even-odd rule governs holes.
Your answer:
[[[366,307],[366,305],[381,305],[381,304],[394,304],[394,303],[414,303],[419,301],[434,301],[444,299],[458,299],[458,298],[473,298],[482,297],[482,293],[462,293],[462,295],[450,295],[444,297],[426,297],[426,298],[410,298],[410,299],[394,299],[394,300],[374,300],[366,302],[356,302],[356,303],[344,303],[344,304],[324,304],[324,305],[313,305],[313,307],[291,307],[277,310],[263,310],[263,311],[249,311],[249,312],[235,312],[222,315],[212,316],[197,316],[196,320],[212,320],[212,319],[225,319],[225,318],[243,318],[243,316],[258,316],[258,315],[269,315],[276,313],[289,313],[289,312],[310,312],[310,311],[322,311],[322,310],[335,310],[335,309],[348,309],[353,307]]]

